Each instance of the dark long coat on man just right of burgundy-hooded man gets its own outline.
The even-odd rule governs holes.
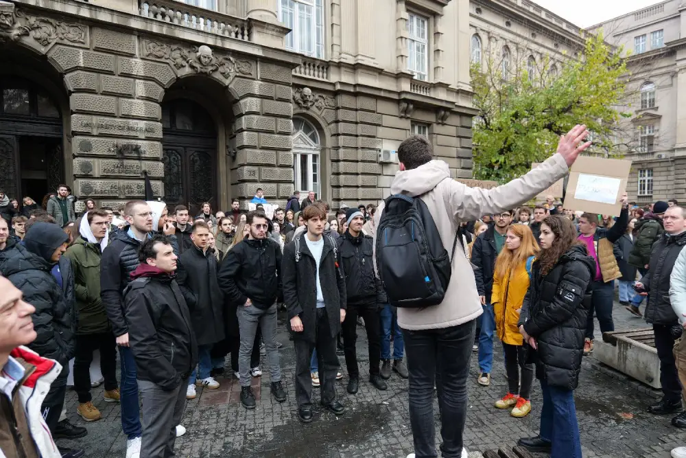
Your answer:
[[[191,310],[191,323],[198,345],[224,339],[224,295],[217,283],[217,257],[213,249],[195,246],[179,257],[177,282]]]

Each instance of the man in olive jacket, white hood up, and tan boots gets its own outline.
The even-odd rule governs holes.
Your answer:
[[[76,411],[86,422],[99,420],[102,416],[91,397],[90,367],[95,350],[100,352],[104,400],[119,402],[117,343],[100,298],[100,257],[108,243],[107,217],[104,210],[88,211],[81,219],[78,238],[64,253],[74,270],[79,317],[74,355],[74,389],[79,401]]]

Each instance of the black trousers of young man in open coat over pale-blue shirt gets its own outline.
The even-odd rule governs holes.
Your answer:
[[[296,349],[296,401],[300,409],[312,408],[312,378],[309,365],[312,351],[315,349],[319,363],[322,404],[331,404],[336,400],[335,382],[340,365],[336,356],[336,338],[331,336],[326,308],[317,309],[316,325],[316,343],[303,339],[297,333],[293,339]]]

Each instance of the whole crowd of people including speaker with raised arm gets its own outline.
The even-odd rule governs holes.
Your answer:
[[[528,415],[534,376],[543,395],[539,435],[519,444],[580,458],[573,391],[583,356],[593,352],[594,317],[601,332],[614,330],[615,280],[627,312],[653,325],[664,398],[648,411],[677,413],[672,424],[686,428],[685,209],[676,201],[641,209],[626,194],[616,217],[571,211],[552,196],[517,207],[567,174],[589,146],[586,135],[576,126],[550,159],[493,190],[452,180],[431,144],[412,136],[399,147],[390,198],[333,214],[314,192],[303,201],[296,192],[268,216],[258,189],[252,211],[237,200],[216,213],[203,203],[194,218],[184,205],[168,209],[159,201],[119,209],[86,201],[77,218],[63,185],[45,208],[23,199],[22,215],[1,193],[0,205],[18,210],[9,221],[5,211],[0,218],[0,424],[12,432],[0,434],[3,454],[84,455],[54,442],[88,434],[63,412],[70,361],[83,420],[102,416],[91,396],[99,382],[104,401],[120,404],[127,458],[173,456],[185,433],[185,403],[198,388],[219,388],[222,375],[237,378],[242,406],[255,409],[261,348],[270,394],[285,402],[276,339],[277,314],[285,310],[301,422],[315,420],[314,387],[324,409],[346,411],[336,391],[339,356],[346,391],[355,395],[364,382],[361,325],[370,386],[388,389],[392,373],[409,378],[408,458],[438,456],[434,389],[442,456],[465,457],[469,360],[477,352],[476,382],[488,387],[497,336],[508,390],[495,408]],[[412,225],[405,225],[410,214]],[[390,218],[402,224],[389,225]],[[408,240],[418,240],[415,248]],[[416,275],[408,275],[420,264],[423,286],[410,288]],[[686,457],[686,447],[672,456]]]

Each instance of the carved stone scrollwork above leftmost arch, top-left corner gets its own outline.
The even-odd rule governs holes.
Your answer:
[[[12,41],[19,41],[25,35],[41,46],[50,45],[56,40],[86,43],[86,27],[83,25],[29,16],[23,10],[16,9],[14,3],[0,1],[0,41],[7,36]]]

